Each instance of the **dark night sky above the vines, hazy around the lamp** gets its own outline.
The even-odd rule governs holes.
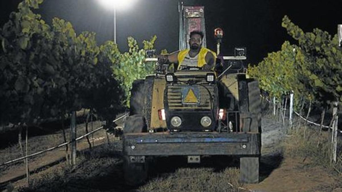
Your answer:
[[[16,10],[20,0],[1,0],[1,26]],[[177,0],[136,0],[130,9],[117,10],[117,43],[127,50],[127,37],[138,42],[157,35],[157,50],[178,49],[179,17]],[[215,50],[213,30],[224,31],[221,53],[232,55],[235,46],[247,47],[248,62],[257,64],[267,53],[278,51],[285,40],[292,40],[281,27],[284,15],[305,32],[314,28],[337,33],[342,24],[342,0],[184,0],[184,5],[205,6],[207,47]],[[51,23],[53,17],[70,21],[76,31],[94,31],[98,44],[113,40],[113,11],[97,0],[45,0],[37,11]]]

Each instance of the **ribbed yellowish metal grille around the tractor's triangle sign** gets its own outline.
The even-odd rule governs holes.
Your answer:
[[[198,86],[198,85],[196,85]],[[214,93],[214,87],[204,85],[208,88],[211,95],[213,96]],[[178,109],[204,109],[204,110],[210,110],[210,94],[208,90],[203,86],[199,87],[199,104],[182,104],[182,87],[184,85],[174,85],[174,86],[168,86],[167,89],[167,99],[168,99],[168,107],[170,110],[178,110]],[[214,102],[214,101],[213,101]]]

